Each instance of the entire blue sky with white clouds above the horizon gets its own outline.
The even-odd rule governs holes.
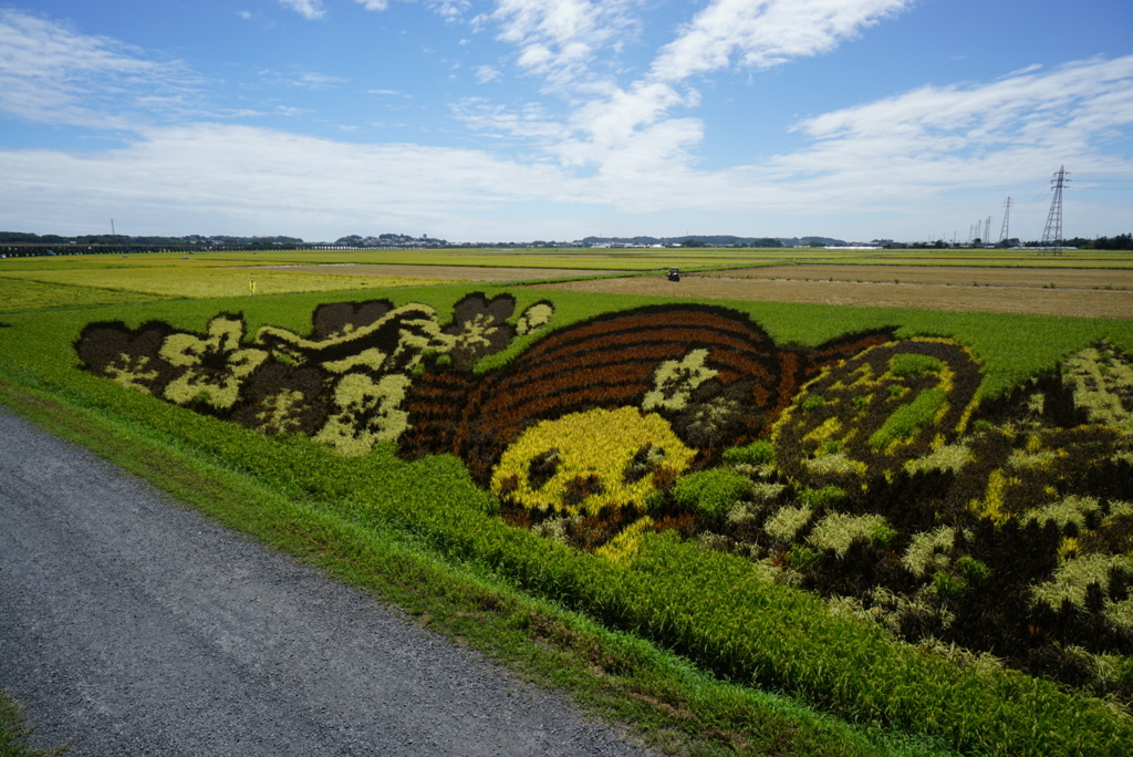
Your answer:
[[[1133,230],[1128,0],[0,0],[0,230]]]

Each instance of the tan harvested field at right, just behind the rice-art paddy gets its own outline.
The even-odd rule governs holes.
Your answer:
[[[789,265],[538,284],[540,289],[1133,318],[1133,271]]]

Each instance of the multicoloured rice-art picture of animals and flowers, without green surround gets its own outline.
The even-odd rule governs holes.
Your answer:
[[[980,366],[946,339],[801,348],[707,305],[554,317],[476,294],[444,318],[322,306],[306,335],[230,313],[205,333],[93,323],[75,348],[265,434],[459,456],[508,522],[602,559],[675,531],[926,652],[1133,701],[1128,355],[1099,343],[978,403]]]

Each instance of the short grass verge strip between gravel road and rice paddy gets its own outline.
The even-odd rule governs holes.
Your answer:
[[[341,509],[305,501],[121,417],[70,407],[2,380],[0,401],[525,679],[570,691],[585,708],[628,724],[636,738],[663,751],[954,754],[927,739],[851,725],[791,698],[717,679],[640,638],[531,597],[486,565],[454,562],[424,539],[375,520],[356,522]]]

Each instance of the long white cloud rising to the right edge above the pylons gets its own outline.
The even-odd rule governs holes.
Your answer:
[[[1022,187],[1045,190],[1062,163],[1133,172],[1133,160],[1106,152],[1108,139],[1133,127],[1133,56],[1025,71],[806,119],[794,127],[809,142],[799,151],[724,171],[672,173],[687,187],[683,197],[661,188],[638,202],[655,211],[757,207],[784,218],[947,216],[966,213],[961,209],[973,196],[997,204]]]

